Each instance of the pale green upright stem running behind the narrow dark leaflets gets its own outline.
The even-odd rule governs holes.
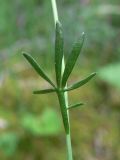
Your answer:
[[[56,26],[56,22],[59,21],[56,0],[51,0],[51,4],[52,4],[52,9],[53,9],[54,22],[55,22],[55,26]],[[64,61],[64,57],[63,57],[63,59],[62,59],[62,73],[61,73],[61,74],[63,74],[64,68],[65,68],[65,61]],[[66,86],[67,86],[67,85],[66,85]],[[70,135],[69,110],[67,110],[67,106],[68,106],[68,94],[67,94],[67,92],[65,92],[65,93],[63,94],[63,96],[64,96],[64,100],[65,100],[66,114],[67,114],[68,128],[69,128],[69,132],[66,133],[66,143],[67,143],[68,160],[73,160],[73,156],[72,156],[72,145],[71,145],[71,135]],[[65,107],[65,106],[64,106],[64,107]]]

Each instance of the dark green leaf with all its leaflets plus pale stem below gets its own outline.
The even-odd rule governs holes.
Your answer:
[[[54,1],[54,0],[53,0]],[[55,1],[54,1],[55,2]],[[34,70],[41,76],[44,80],[46,80],[51,88],[37,90],[34,91],[34,94],[47,94],[55,92],[58,96],[61,115],[63,119],[63,125],[66,133],[66,142],[67,142],[67,150],[68,150],[68,160],[73,160],[72,155],[72,146],[71,146],[71,135],[70,135],[70,121],[69,121],[69,110],[72,108],[80,107],[83,103],[77,103],[73,105],[69,105],[67,93],[69,91],[75,90],[87,82],[89,82],[96,73],[92,73],[86,78],[75,82],[74,84],[67,86],[67,81],[71,75],[71,72],[75,66],[75,63],[78,59],[79,54],[81,53],[81,49],[84,43],[85,34],[82,33],[81,37],[74,43],[71,53],[66,60],[66,64],[64,64],[64,38],[62,25],[59,20],[55,21],[55,73],[56,73],[56,83],[54,83],[48,75],[44,72],[41,66],[37,63],[37,61],[28,53],[23,53],[24,57],[27,61],[32,65]]]

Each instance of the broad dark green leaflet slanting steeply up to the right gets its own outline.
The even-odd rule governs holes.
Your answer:
[[[66,65],[65,65],[65,70],[64,70],[64,73],[63,73],[63,78],[62,78],[62,86],[65,87],[66,85],[66,82],[73,70],[73,67],[77,61],[77,58],[81,52],[81,49],[82,49],[82,46],[83,46],[83,43],[84,43],[84,33],[82,34],[82,38],[78,39],[77,42],[74,44],[73,46],[73,49],[72,49],[72,52],[71,54],[69,55],[68,57],[68,60],[66,62]]]

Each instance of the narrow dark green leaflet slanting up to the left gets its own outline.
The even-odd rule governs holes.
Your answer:
[[[35,59],[27,54],[27,53],[23,53],[23,56],[28,60],[28,62],[32,65],[32,67],[35,69],[35,71],[42,77],[44,78],[47,82],[49,82],[54,88],[55,85],[53,84],[53,82],[48,78],[48,76],[45,74],[45,72],[41,69],[41,67],[39,66],[39,64],[35,61]]]

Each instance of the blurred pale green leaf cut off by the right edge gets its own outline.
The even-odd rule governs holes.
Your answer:
[[[99,77],[109,84],[120,88],[120,64],[114,63],[101,68]]]

